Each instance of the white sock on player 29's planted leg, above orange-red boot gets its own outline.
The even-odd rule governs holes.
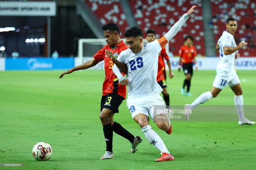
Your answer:
[[[142,128],[142,132],[145,134],[145,137],[148,141],[153,144],[159,151],[169,153],[168,149],[164,145],[163,140],[158,136],[158,134],[151,128],[150,125],[144,126]]]

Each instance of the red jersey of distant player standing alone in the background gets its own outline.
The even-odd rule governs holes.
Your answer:
[[[193,63],[193,59],[196,56],[196,51],[194,46],[184,45],[180,48],[179,56],[182,57],[182,65],[187,63]]]

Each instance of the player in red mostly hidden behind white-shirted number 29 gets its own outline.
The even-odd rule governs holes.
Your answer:
[[[148,42],[152,42],[156,39],[156,31],[154,29],[149,29],[147,30],[147,37],[146,37]],[[171,71],[171,63],[168,54],[166,53],[165,47],[162,47],[161,52],[159,53],[158,56],[158,71],[157,71],[157,83],[162,87],[163,91],[163,97],[165,104],[167,106],[170,105],[170,97],[167,92],[167,84],[166,84],[166,70],[165,70],[165,63],[164,59],[166,59],[166,63],[169,67],[169,78],[173,78],[174,74]]]

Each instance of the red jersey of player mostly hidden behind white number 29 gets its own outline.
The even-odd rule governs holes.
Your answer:
[[[164,59],[169,59],[169,56],[166,53],[165,47],[162,47],[162,50],[158,56],[158,70],[157,70],[157,77],[156,77],[157,82],[161,80],[165,80],[164,75],[166,75],[166,70],[165,70]]]

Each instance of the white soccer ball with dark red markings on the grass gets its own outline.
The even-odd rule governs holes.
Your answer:
[[[38,161],[47,161],[52,156],[52,147],[45,142],[38,142],[32,150],[33,157]]]

